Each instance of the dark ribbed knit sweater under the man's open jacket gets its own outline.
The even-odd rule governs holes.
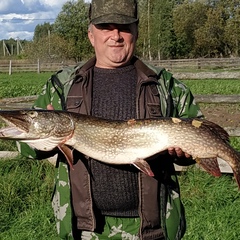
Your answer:
[[[136,117],[136,70],[94,68],[92,115],[112,120]],[[96,208],[109,216],[138,216],[137,170],[131,165],[90,161]]]

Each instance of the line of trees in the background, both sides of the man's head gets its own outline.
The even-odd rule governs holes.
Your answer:
[[[239,0],[139,0],[136,55],[146,60],[239,57]],[[53,24],[37,25],[24,57],[74,59],[93,55],[87,38],[89,3],[65,3]]]

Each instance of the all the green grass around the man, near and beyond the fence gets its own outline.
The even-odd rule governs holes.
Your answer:
[[[38,94],[49,76],[0,74],[0,98]],[[240,81],[236,80],[186,83],[195,94],[240,92]],[[233,139],[232,144],[240,149],[239,139]],[[0,142],[0,150],[6,149],[15,150],[14,142]],[[1,240],[57,239],[51,209],[53,181],[54,167],[47,161],[23,157],[0,160]],[[188,225],[184,240],[240,239],[240,193],[231,174],[214,178],[192,167],[179,174],[179,181]]]

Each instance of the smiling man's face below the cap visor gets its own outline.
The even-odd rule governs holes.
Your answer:
[[[90,25],[88,37],[95,49],[96,66],[116,68],[129,63],[138,36],[137,24]]]

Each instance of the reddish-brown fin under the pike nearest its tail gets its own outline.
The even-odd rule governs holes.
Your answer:
[[[195,161],[208,173],[214,177],[222,175],[216,157],[213,158],[196,158]]]

